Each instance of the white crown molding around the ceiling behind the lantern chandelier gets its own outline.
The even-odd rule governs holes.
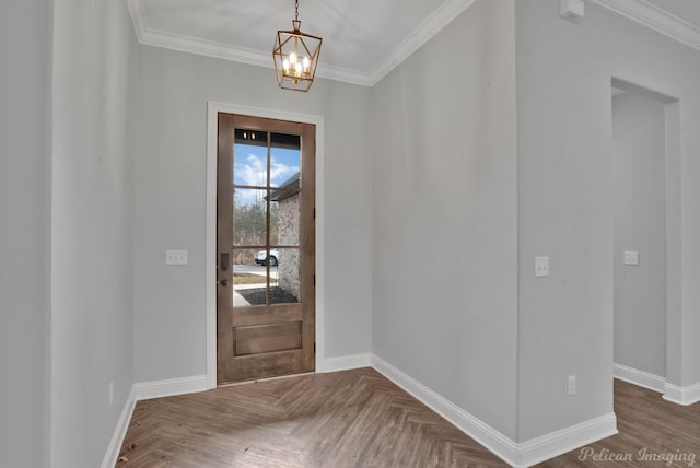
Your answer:
[[[258,67],[272,68],[273,66],[271,52],[261,52],[259,50],[235,47],[230,44],[215,43],[198,37],[151,28],[143,14],[142,0],[126,0],[126,2],[129,7],[129,13],[131,14],[133,30],[136,31],[136,37],[139,44]],[[370,73],[319,63],[316,70],[316,77],[362,86],[373,86],[474,2],[475,0],[448,0],[445,2]]]

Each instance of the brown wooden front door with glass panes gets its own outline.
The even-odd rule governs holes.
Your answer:
[[[315,368],[315,127],[219,114],[218,384]]]

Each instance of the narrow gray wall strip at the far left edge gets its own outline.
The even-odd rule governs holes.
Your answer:
[[[46,466],[49,2],[0,14],[0,465]]]

